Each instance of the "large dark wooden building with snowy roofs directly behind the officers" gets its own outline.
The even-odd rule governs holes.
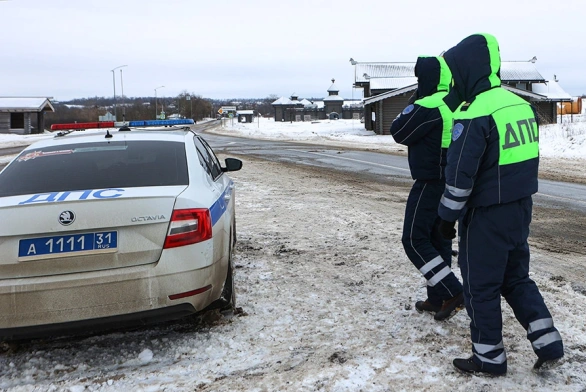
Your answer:
[[[557,80],[546,80],[530,61],[503,61],[502,87],[531,102],[541,124],[557,122],[558,104],[572,101]],[[388,135],[393,120],[417,89],[414,62],[353,62],[354,86],[364,89],[364,126]]]

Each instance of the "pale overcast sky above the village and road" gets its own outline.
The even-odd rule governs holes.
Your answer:
[[[415,61],[496,36],[571,95],[586,93],[586,1],[0,0],[0,96],[114,94],[320,98],[352,89],[357,61]],[[120,94],[120,70],[116,95]]]

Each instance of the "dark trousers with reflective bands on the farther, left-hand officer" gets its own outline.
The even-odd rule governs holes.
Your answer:
[[[450,266],[452,241],[438,231],[437,208],[445,189],[443,180],[416,180],[409,193],[403,222],[403,248],[427,280],[427,298],[434,305],[462,292]]]

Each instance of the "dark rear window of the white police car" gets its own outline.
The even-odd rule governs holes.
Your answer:
[[[0,197],[187,184],[184,143],[80,143],[21,153],[0,174]]]

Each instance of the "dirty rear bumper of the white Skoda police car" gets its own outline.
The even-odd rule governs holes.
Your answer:
[[[55,335],[78,327],[89,331],[106,324],[140,324],[143,318],[161,316],[164,320],[200,311],[221,294],[224,282],[216,268],[219,266],[214,264],[171,273],[147,265],[0,280],[0,338]],[[206,286],[211,289],[177,300],[169,298]]]

